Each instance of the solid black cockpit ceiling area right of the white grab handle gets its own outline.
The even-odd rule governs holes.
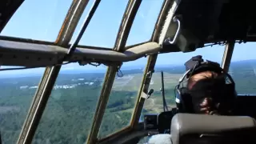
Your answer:
[[[254,1],[182,0],[176,14],[182,28],[190,30],[201,43],[256,41]]]

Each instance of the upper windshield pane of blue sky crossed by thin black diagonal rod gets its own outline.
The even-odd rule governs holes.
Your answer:
[[[90,7],[94,1],[90,1],[86,10],[82,14],[82,18],[78,23],[74,38],[76,38],[78,31],[81,29],[82,23],[86,18]],[[113,48],[115,39],[117,38],[118,29],[122,22],[122,15],[126,10],[128,0],[103,0],[98,5],[97,10],[91,18],[90,23],[83,34],[79,45],[86,46],[100,46],[106,48]]]

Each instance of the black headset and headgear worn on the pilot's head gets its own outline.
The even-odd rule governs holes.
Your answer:
[[[208,60],[204,62],[202,56],[198,55],[187,61],[185,66],[186,73],[179,79],[178,85],[175,87],[176,104],[179,112],[199,113],[197,109],[198,101],[202,100],[202,97],[205,97],[206,93],[209,91],[210,92],[207,93],[208,95],[216,95],[213,99],[215,102],[220,104],[220,111],[229,111],[233,109],[234,101],[237,96],[234,80],[231,78],[230,74],[227,74],[220,67],[217,62],[210,62]],[[206,81],[210,81],[207,80],[207,78],[206,80],[198,81],[198,86],[194,86],[197,90],[201,91],[200,93],[193,93],[193,90],[189,90],[184,83],[186,83],[194,74],[198,74],[203,71],[212,71],[217,73],[218,78],[214,78],[214,81],[209,85],[205,84],[207,83]],[[210,85],[214,85],[215,87],[217,86],[218,90],[216,88],[214,90],[214,86],[210,87]],[[223,112],[222,114],[226,114],[226,112]]]

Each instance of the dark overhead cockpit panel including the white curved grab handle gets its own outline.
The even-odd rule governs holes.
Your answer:
[[[256,13],[252,1],[176,0],[170,9],[173,14],[164,34],[167,42],[162,40],[163,52],[189,52],[206,43],[255,41]],[[178,34],[176,42],[175,34]]]

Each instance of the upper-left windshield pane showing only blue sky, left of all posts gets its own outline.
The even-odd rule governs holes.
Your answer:
[[[26,0],[1,35],[54,42],[72,0]]]

